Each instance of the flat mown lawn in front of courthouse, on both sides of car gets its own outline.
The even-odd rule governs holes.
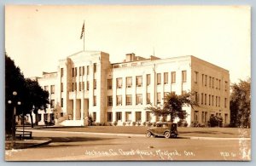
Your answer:
[[[28,129],[28,128],[26,128]],[[92,133],[119,133],[144,135],[148,127],[145,126],[89,126],[89,127],[37,127],[35,129],[54,131],[75,131]],[[250,138],[251,129],[238,128],[177,128],[180,136],[201,136],[220,138]]]

